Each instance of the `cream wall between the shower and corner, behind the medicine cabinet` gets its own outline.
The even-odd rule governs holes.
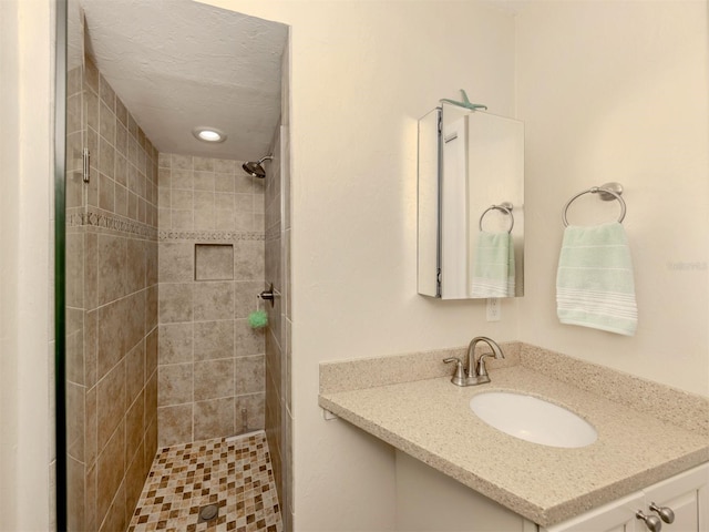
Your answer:
[[[516,337],[513,305],[415,294],[417,120],[514,114],[514,18],[476,2],[209,1],[291,25],[295,523],[394,528],[390,448],[317,406],[318,364]]]

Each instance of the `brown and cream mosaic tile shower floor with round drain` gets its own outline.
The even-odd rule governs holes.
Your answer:
[[[218,516],[199,521],[216,504]],[[129,532],[282,532],[278,494],[263,431],[158,451]]]

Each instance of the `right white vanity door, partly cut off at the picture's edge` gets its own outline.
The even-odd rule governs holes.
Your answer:
[[[670,508],[675,522],[662,523],[662,532],[706,532],[709,530],[709,464],[659,482],[645,490],[645,512],[650,503]]]

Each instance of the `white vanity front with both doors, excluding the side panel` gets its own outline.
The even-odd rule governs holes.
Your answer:
[[[540,532],[644,532],[651,530],[636,518],[658,516],[650,504],[669,508],[675,514],[672,523],[661,523],[664,532],[709,531],[709,464],[705,463],[657,484],[605,504],[577,518],[564,521]]]

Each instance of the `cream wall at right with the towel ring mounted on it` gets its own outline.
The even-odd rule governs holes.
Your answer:
[[[707,2],[525,2],[517,69],[528,205],[520,339],[709,395]],[[633,338],[556,318],[562,208],[608,181],[625,186]],[[569,219],[619,212],[585,198]]]

